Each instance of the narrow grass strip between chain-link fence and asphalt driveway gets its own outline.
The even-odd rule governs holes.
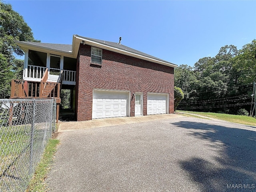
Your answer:
[[[50,139],[45,150],[43,157],[36,168],[36,172],[30,181],[26,192],[45,192],[47,191],[47,186],[44,180],[47,177],[50,167],[53,162],[54,154],[56,152],[56,147],[60,141],[57,139]]]

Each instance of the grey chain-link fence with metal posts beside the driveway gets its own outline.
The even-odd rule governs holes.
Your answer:
[[[0,100],[0,192],[26,190],[55,130],[54,99]]]

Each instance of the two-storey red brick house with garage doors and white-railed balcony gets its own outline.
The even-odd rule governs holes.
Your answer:
[[[78,35],[72,45],[17,41],[25,52],[24,90],[12,98],[59,98],[60,89],[69,89],[78,121],[173,113],[176,65],[120,41]]]

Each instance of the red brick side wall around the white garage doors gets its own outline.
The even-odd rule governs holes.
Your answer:
[[[143,92],[143,115],[147,114],[147,93],[169,93],[169,113],[174,113],[174,68],[116,52],[102,50],[102,66],[92,65],[91,46],[80,45],[76,76],[76,117],[92,119],[94,88],[131,92],[130,116],[134,116],[135,92]]]

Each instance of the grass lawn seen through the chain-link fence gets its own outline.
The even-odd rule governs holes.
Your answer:
[[[35,125],[33,137],[31,124],[0,126],[0,191],[26,189],[51,135],[43,125]]]

